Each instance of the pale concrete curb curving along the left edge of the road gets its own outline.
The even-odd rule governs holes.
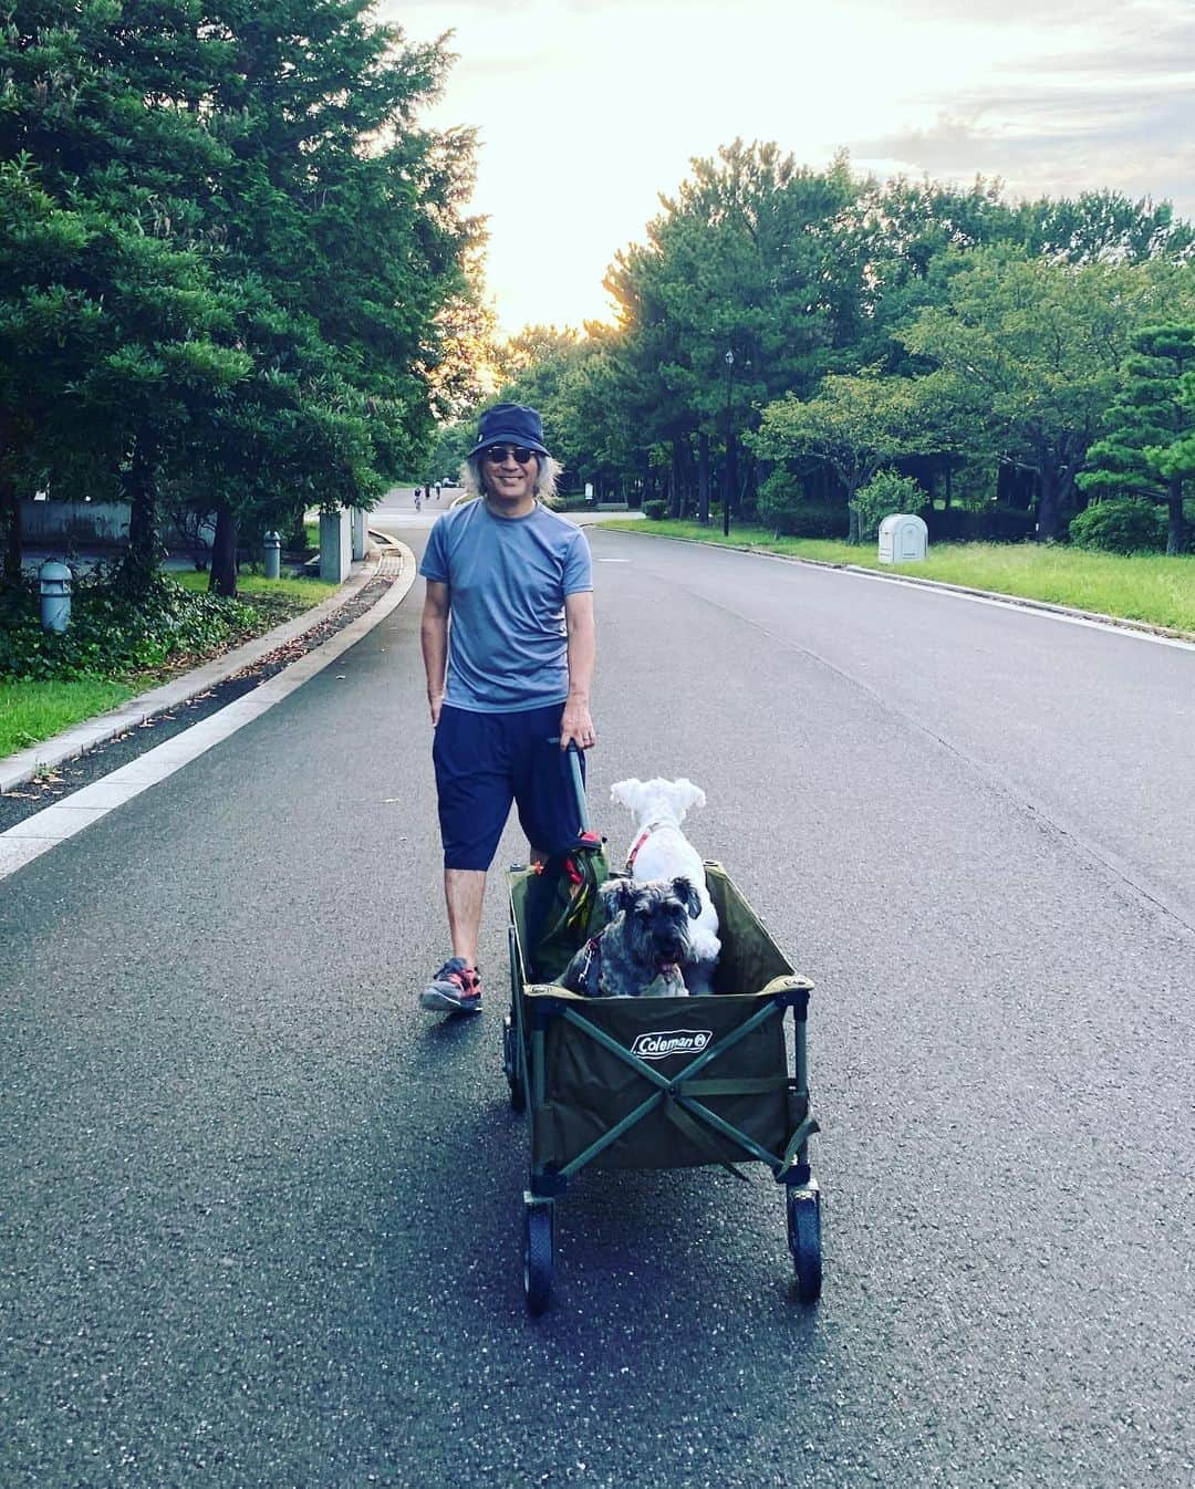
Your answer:
[[[12,791],[15,786],[22,786],[25,782],[33,780],[42,771],[52,770],[55,765],[61,765],[67,759],[77,759],[79,755],[85,755],[88,750],[95,749],[97,744],[106,744],[109,740],[115,739],[118,734],[124,734],[128,730],[137,728],[145,724],[146,719],[153,718],[156,713],[162,713],[167,709],[179,707],[182,703],[188,703],[198,692],[204,692],[207,688],[213,688],[231,677],[234,673],[241,672],[244,667],[250,667],[255,661],[259,661],[268,652],[276,651],[279,646],[285,646],[288,642],[297,640],[307,631],[314,630],[328,616],[335,615],[337,610],[343,609],[350,600],[371,584],[383,572],[383,564],[386,558],[398,560],[398,575],[393,584],[389,587],[384,596],[359,616],[347,630],[355,631],[362,621],[370,621],[359,634],[364,634],[378,621],[384,619],[390,609],[405,599],[416,576],[416,561],[414,554],[405,545],[398,542],[395,538],[389,538],[384,533],[374,535],[377,539],[383,539],[378,555],[373,560],[364,560],[353,566],[353,573],[344,584],[331,594],[326,600],[313,606],[310,610],[304,610],[301,615],[294,616],[294,619],[286,621],[282,625],[276,625],[273,631],[265,631],[262,636],[255,636],[253,640],[246,642],[235,651],[225,652],[215,661],[206,663],[203,667],[197,667],[194,672],[183,673],[180,677],[174,677],[171,682],[165,682],[158,688],[152,688],[149,692],[142,692],[136,698],[130,698],[127,703],[119,704],[116,709],[109,709],[107,713],[97,713],[92,719],[85,719],[82,724],[73,724],[69,730],[61,734],[55,734],[48,740],[42,740],[37,744],[31,744],[28,749],[18,750],[15,755],[9,755],[0,759],[0,795]],[[395,591],[398,597],[395,599]],[[390,602],[387,605],[387,602]],[[386,606],[386,609],[383,609]],[[320,646],[313,648],[308,655],[316,655],[325,646],[329,646],[337,637],[331,636]],[[291,667],[298,667],[304,658],[298,658],[288,667],[283,667],[277,676],[285,676],[291,672]],[[329,657],[329,661],[332,658]],[[264,686],[262,683],[261,686]],[[258,689],[253,689],[255,692]]]

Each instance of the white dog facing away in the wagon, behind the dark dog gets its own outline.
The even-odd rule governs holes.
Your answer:
[[[705,884],[700,853],[681,832],[685,812],[705,806],[705,792],[691,780],[617,780],[609,788],[612,801],[630,809],[639,831],[627,853],[627,871],[636,883],[650,879],[675,879],[685,874],[697,887],[702,913],[690,926],[693,951],[682,972],[690,993],[714,992],[714,968],[723,948],[718,940],[718,911]]]

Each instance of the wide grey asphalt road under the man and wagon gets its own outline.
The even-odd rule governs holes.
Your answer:
[[[1195,651],[592,542],[595,816],[705,786],[817,983],[821,1303],[758,1170],[592,1173],[526,1318],[501,893],[493,1007],[413,1001],[416,587],[0,890],[0,1483],[1192,1483]]]

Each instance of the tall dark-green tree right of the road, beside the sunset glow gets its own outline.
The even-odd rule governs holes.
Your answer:
[[[799,170],[775,144],[736,140],[694,159],[647,243],[615,258],[611,369],[639,451],[669,447],[673,511],[696,476],[705,515],[711,447],[724,442],[733,472],[757,406],[812,390],[857,335],[864,265],[843,228],[855,191],[845,158]]]

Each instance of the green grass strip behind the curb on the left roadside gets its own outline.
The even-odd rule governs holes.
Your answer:
[[[170,578],[185,590],[207,590],[206,573],[171,573]],[[261,575],[241,575],[237,587],[238,599],[255,610],[255,624],[232,637],[222,651],[282,625],[340,588],[322,579],[265,579]],[[212,655],[219,655],[219,651]],[[177,657],[152,673],[131,673],[125,677],[80,677],[75,682],[34,682],[22,677],[0,682],[0,759],[52,739],[72,724],[115,709],[118,703],[207,660],[210,657]]]

